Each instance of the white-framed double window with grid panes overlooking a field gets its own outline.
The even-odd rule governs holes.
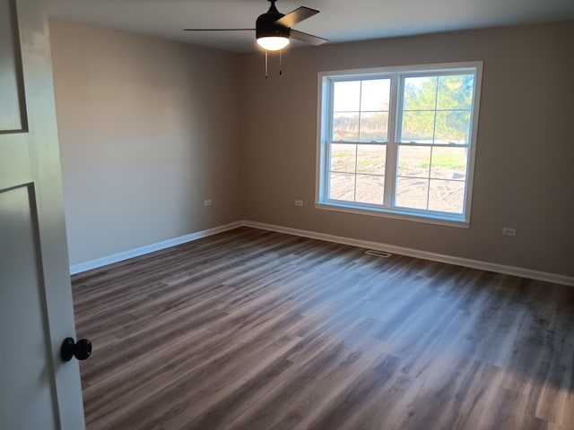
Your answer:
[[[317,207],[468,226],[481,73],[319,73]]]

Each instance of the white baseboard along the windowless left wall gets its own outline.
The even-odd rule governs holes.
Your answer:
[[[186,236],[174,237],[172,239],[164,240],[152,245],[145,245],[139,248],[130,249],[122,253],[108,255],[106,257],[97,258],[96,260],[91,260],[90,262],[80,262],[77,264],[72,264],[70,266],[70,274],[75,275],[76,273],[81,273],[83,271],[91,271],[91,269],[97,269],[99,267],[107,266],[114,262],[123,262],[124,260],[129,260],[130,258],[138,257],[143,254],[150,254],[155,251],[160,251],[161,249],[169,248],[170,246],[181,245],[187,242],[192,242],[202,237],[213,236],[223,231],[232,230],[233,228],[242,227],[244,223],[242,221],[231,222],[230,224],[225,224],[224,226],[208,228],[207,230],[197,231],[196,233],[191,233]]]

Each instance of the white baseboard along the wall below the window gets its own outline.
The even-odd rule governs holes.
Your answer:
[[[387,251],[391,254],[407,255],[409,257],[421,258],[423,260],[431,260],[433,262],[447,262],[448,264],[455,264],[457,266],[465,266],[473,269],[480,269],[483,271],[495,271],[504,273],[506,275],[520,276],[531,280],[544,280],[556,284],[574,286],[574,277],[558,275],[555,273],[548,273],[546,271],[532,271],[521,267],[506,266],[504,264],[497,264],[494,262],[482,262],[479,260],[471,260],[468,258],[455,257],[452,255],[435,254],[427,251],[420,251],[413,248],[405,248],[403,246],[381,244],[380,242],[370,242],[367,240],[352,239],[351,237],[326,235],[324,233],[316,233],[314,231],[300,230],[298,228],[287,228],[274,226],[272,224],[264,224],[261,222],[254,222],[244,220],[242,223],[245,227],[259,228],[263,230],[276,231],[278,233],[286,233],[288,235],[309,237],[312,239],[325,240],[327,242],[335,242],[337,244],[358,246],[361,248],[376,249],[377,251]]]

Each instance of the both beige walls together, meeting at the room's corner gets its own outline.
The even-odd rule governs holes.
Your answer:
[[[574,275],[574,22],[292,48],[268,80],[260,53],[51,31],[73,264],[248,219]],[[474,60],[471,228],[314,207],[317,72]]]

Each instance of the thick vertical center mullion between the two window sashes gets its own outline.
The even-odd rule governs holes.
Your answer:
[[[393,74],[391,76],[391,98],[388,101],[388,143],[387,143],[387,159],[385,161],[385,195],[383,206],[385,208],[392,208],[395,204],[395,188],[396,188],[396,155],[397,144],[396,135],[397,119],[399,111],[399,81],[400,74]]]

